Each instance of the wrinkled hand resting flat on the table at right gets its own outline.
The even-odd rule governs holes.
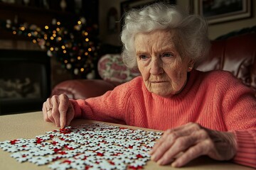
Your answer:
[[[201,155],[215,160],[229,160],[235,156],[236,140],[232,132],[220,132],[188,123],[166,130],[151,152],[151,160],[160,165],[180,167]]]

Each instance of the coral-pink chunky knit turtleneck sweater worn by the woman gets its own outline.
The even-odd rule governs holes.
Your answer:
[[[233,162],[256,168],[256,98],[232,74],[193,70],[180,94],[164,98],[150,93],[142,77],[103,96],[73,101],[75,118],[167,130],[189,122],[235,133]]]

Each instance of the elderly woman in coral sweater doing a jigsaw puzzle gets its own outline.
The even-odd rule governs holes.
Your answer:
[[[127,13],[121,39],[127,67],[141,77],[103,96],[43,103],[44,119],[63,128],[73,118],[166,130],[151,150],[160,165],[183,166],[201,155],[256,167],[256,99],[224,71],[199,72],[208,54],[206,21],[166,4]]]

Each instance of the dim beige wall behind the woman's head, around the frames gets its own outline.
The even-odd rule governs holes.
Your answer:
[[[108,43],[111,45],[121,45],[119,40],[119,30],[118,27],[117,33],[108,33],[107,31],[107,12],[110,10],[111,7],[117,9],[118,19],[120,19],[120,3],[125,0],[111,0],[99,1],[99,26],[100,26],[100,39],[104,43]],[[176,0],[178,8],[183,9],[183,11],[188,12],[190,8],[190,1],[191,0]],[[225,23],[216,23],[209,26],[209,38],[210,40],[214,40],[218,38],[220,35],[224,35],[226,33],[230,33],[233,30],[240,30],[242,28],[247,28],[251,26],[256,26],[256,1],[252,1],[252,17],[245,18],[238,21],[229,21]],[[118,22],[118,21],[117,21]],[[118,23],[118,26],[120,24]]]

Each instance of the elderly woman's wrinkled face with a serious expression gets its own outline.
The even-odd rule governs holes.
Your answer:
[[[159,96],[178,94],[186,85],[193,61],[181,57],[174,44],[174,31],[157,30],[135,36],[139,71],[146,88]]]

